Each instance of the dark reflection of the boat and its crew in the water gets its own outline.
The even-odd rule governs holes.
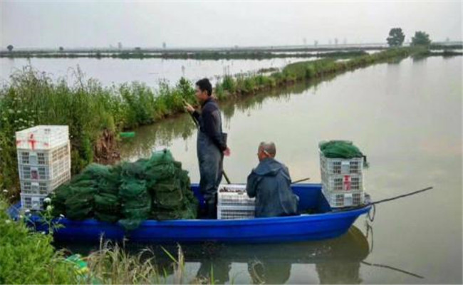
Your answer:
[[[182,249],[187,263],[201,263],[197,278],[210,280],[213,274],[217,284],[233,278],[229,273],[234,263],[247,264],[253,284],[284,284],[293,264],[315,264],[321,284],[360,284],[360,262],[369,253],[368,239],[357,227],[342,237],[320,242],[204,244]]]

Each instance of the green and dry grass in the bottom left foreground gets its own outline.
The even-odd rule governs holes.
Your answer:
[[[161,267],[150,249],[129,254],[102,239],[97,250],[83,257],[88,268],[82,270],[66,260],[65,251],[56,251],[51,234],[26,227],[26,215],[11,220],[8,207],[0,194],[0,284],[214,284],[213,274],[209,279],[189,276],[180,246],[176,257],[165,250],[170,261]]]

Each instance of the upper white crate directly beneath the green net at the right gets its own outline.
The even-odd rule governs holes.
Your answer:
[[[320,153],[320,168],[326,175],[361,175],[363,170],[363,157],[350,159],[329,158]]]

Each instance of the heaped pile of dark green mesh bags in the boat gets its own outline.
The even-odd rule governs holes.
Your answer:
[[[68,219],[95,217],[125,229],[145,219],[195,219],[197,199],[188,172],[169,150],[150,159],[105,166],[92,164],[51,195],[53,212]]]

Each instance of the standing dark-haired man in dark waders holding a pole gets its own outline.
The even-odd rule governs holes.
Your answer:
[[[207,78],[196,83],[196,98],[201,104],[201,113],[192,105],[186,108],[199,123],[197,155],[199,161],[199,189],[206,202],[207,218],[217,218],[217,188],[222,180],[224,155],[230,155],[226,134],[222,133],[222,118],[219,106],[211,97],[212,85]]]

